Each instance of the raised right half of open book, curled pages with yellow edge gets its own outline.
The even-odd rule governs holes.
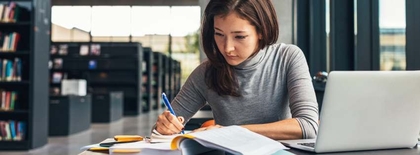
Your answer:
[[[223,150],[234,155],[271,155],[289,149],[283,144],[240,126],[227,126],[174,138],[171,149],[182,155],[196,155],[204,148]]]

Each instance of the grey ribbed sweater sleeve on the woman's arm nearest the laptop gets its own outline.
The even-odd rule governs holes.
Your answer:
[[[287,87],[292,117],[302,128],[303,139],[316,138],[318,133],[318,103],[309,68],[303,52],[294,45],[286,46],[288,51]]]

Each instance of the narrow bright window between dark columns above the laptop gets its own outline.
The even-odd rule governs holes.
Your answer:
[[[405,0],[379,0],[380,70],[406,69]]]

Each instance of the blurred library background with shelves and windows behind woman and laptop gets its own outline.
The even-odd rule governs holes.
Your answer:
[[[209,1],[0,0],[0,155],[150,134],[161,93],[172,101],[206,60]],[[277,43],[302,49],[320,109],[330,71],[420,69],[420,0],[271,1]],[[185,127],[211,119],[205,106]]]

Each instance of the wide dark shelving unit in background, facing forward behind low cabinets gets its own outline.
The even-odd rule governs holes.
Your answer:
[[[61,72],[67,79],[86,79],[87,93],[124,93],[124,115],[138,115],[143,111],[142,103],[142,61],[143,47],[135,42],[53,42],[68,45],[67,55],[51,55],[51,62],[62,59],[61,67],[52,65],[50,77]],[[100,54],[91,55],[92,44],[100,45]],[[81,45],[89,47],[88,55],[80,55]],[[59,49],[58,49],[59,50]],[[60,87],[50,81],[50,89]],[[51,91],[52,92],[52,91]]]

